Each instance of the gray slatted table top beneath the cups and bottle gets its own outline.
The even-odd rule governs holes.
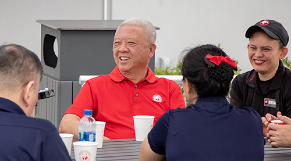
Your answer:
[[[141,142],[135,139],[114,139],[104,140],[103,147],[97,149],[98,161],[137,161]],[[71,158],[74,161],[74,149],[72,148]],[[290,161],[291,148],[271,148],[266,142],[264,161]]]

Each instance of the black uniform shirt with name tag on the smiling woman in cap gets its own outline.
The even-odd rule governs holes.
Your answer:
[[[253,69],[234,78],[230,90],[230,104],[237,108],[254,108],[260,115],[276,116],[277,111],[291,118],[291,71],[279,62],[270,86],[262,94],[258,73]]]

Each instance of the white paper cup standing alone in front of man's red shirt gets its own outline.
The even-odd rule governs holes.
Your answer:
[[[135,140],[143,141],[153,128],[154,116],[136,115],[133,116]]]

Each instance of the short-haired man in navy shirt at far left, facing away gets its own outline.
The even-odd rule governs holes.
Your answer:
[[[28,117],[36,108],[43,73],[35,53],[16,44],[0,46],[0,160],[71,160],[49,121]]]

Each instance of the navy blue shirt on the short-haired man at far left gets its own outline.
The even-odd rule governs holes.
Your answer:
[[[71,160],[49,121],[27,117],[14,102],[0,98],[0,160]]]

